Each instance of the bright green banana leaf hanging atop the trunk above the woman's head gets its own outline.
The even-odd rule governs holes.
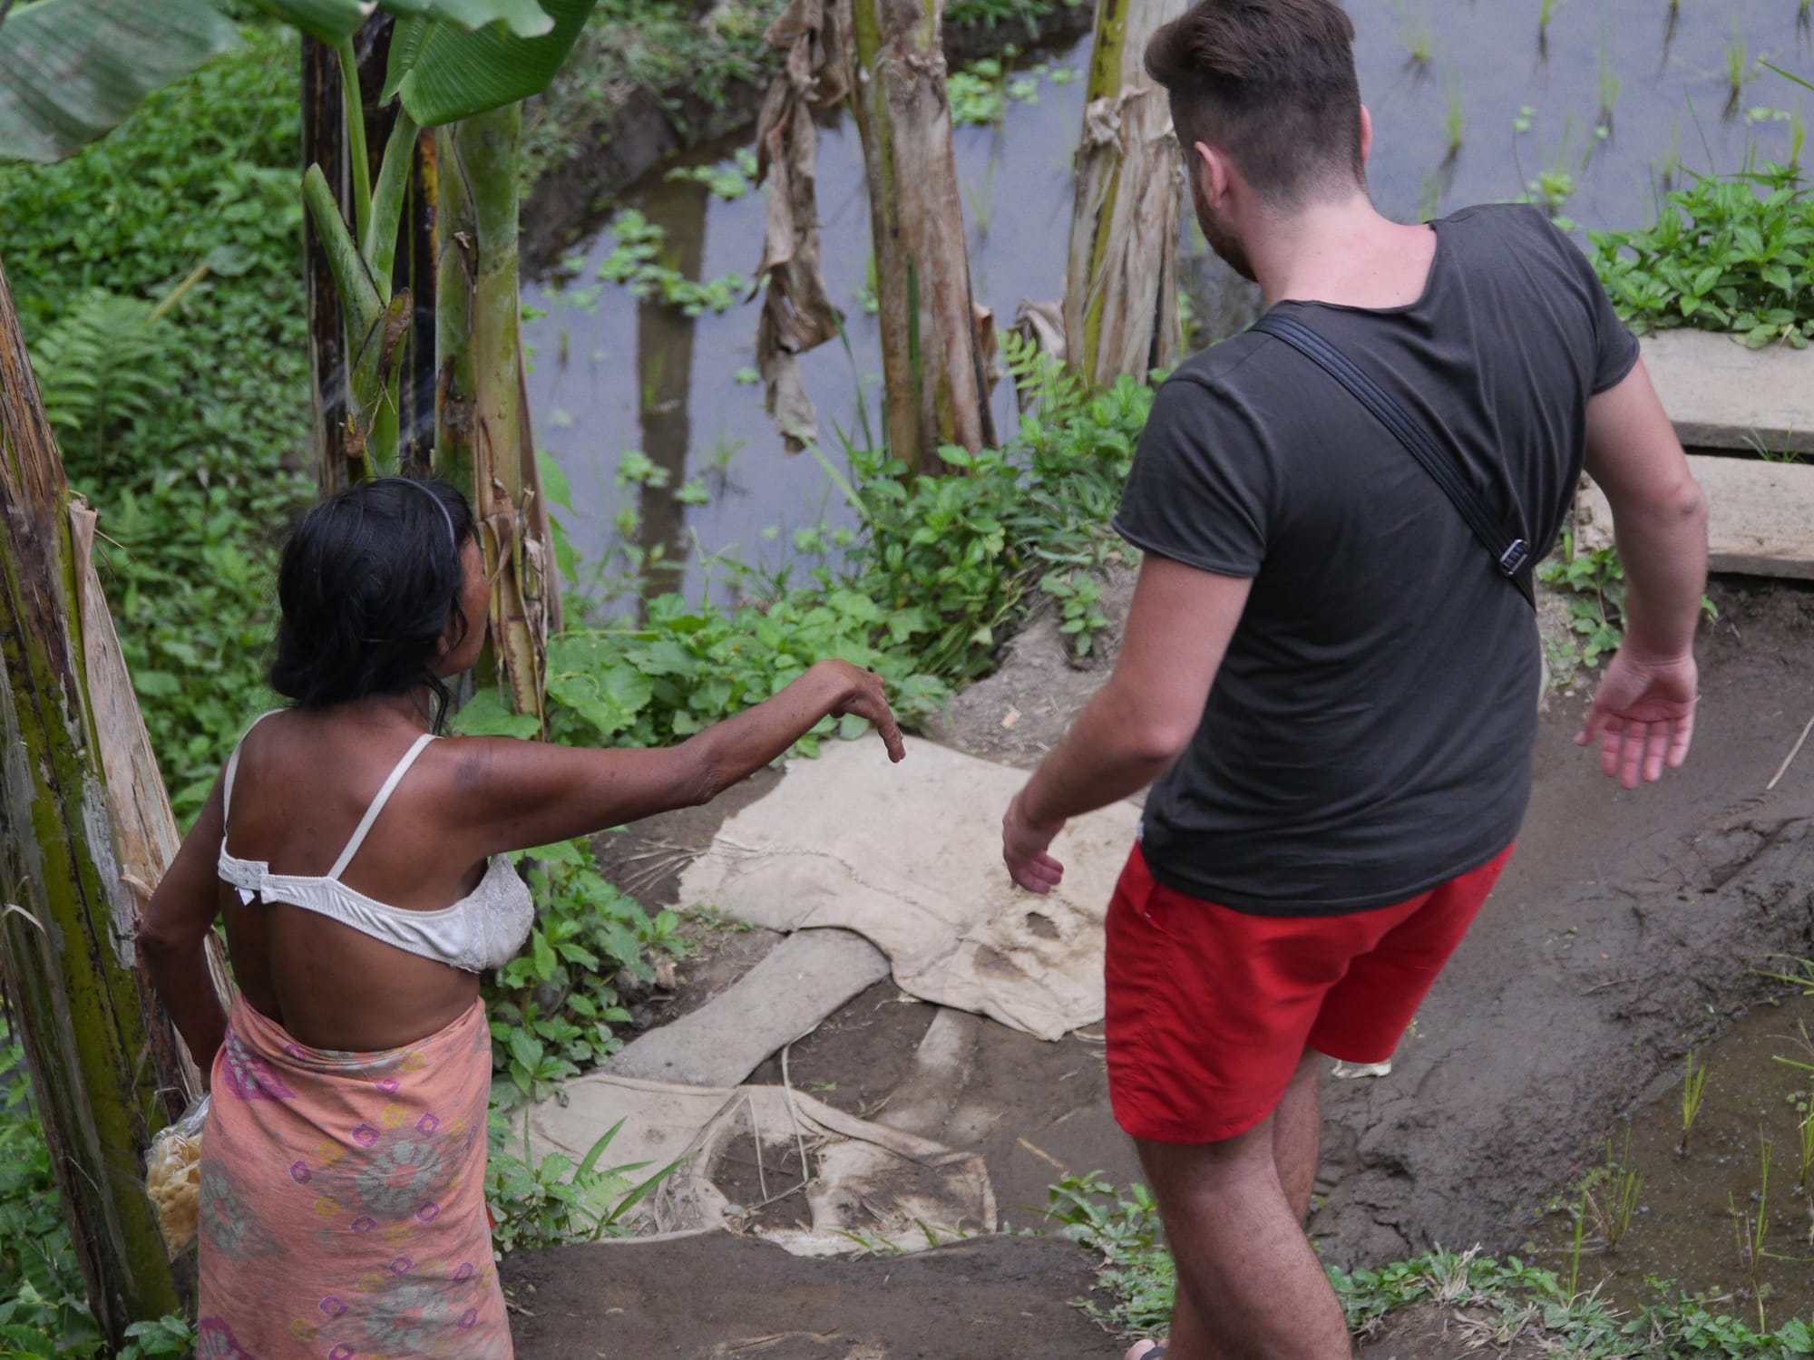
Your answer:
[[[450,2],[441,0],[443,5]],[[388,9],[403,4],[414,0],[386,0]],[[573,51],[595,0],[541,4],[553,27],[539,38],[524,38],[499,24],[463,31],[426,15],[399,20],[383,98],[401,94],[417,123],[441,127],[541,94]]]

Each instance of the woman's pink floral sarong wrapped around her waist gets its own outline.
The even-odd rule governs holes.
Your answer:
[[[236,999],[201,1135],[198,1360],[508,1360],[484,1006],[383,1054]]]

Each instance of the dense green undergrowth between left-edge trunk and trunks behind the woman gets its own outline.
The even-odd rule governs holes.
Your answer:
[[[270,707],[270,544],[308,495],[296,40],[241,36],[80,156],[0,170],[25,339],[185,820]]]

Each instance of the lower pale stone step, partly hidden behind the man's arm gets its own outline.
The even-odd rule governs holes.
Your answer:
[[[1707,493],[1707,566],[1747,577],[1814,580],[1814,464],[1689,453]],[[1613,542],[1613,511],[1591,482],[1576,504],[1576,542]]]

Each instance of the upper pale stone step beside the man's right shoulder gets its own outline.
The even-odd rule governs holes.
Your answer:
[[[1705,330],[1645,335],[1640,348],[1687,448],[1814,453],[1814,348],[1747,350]]]

